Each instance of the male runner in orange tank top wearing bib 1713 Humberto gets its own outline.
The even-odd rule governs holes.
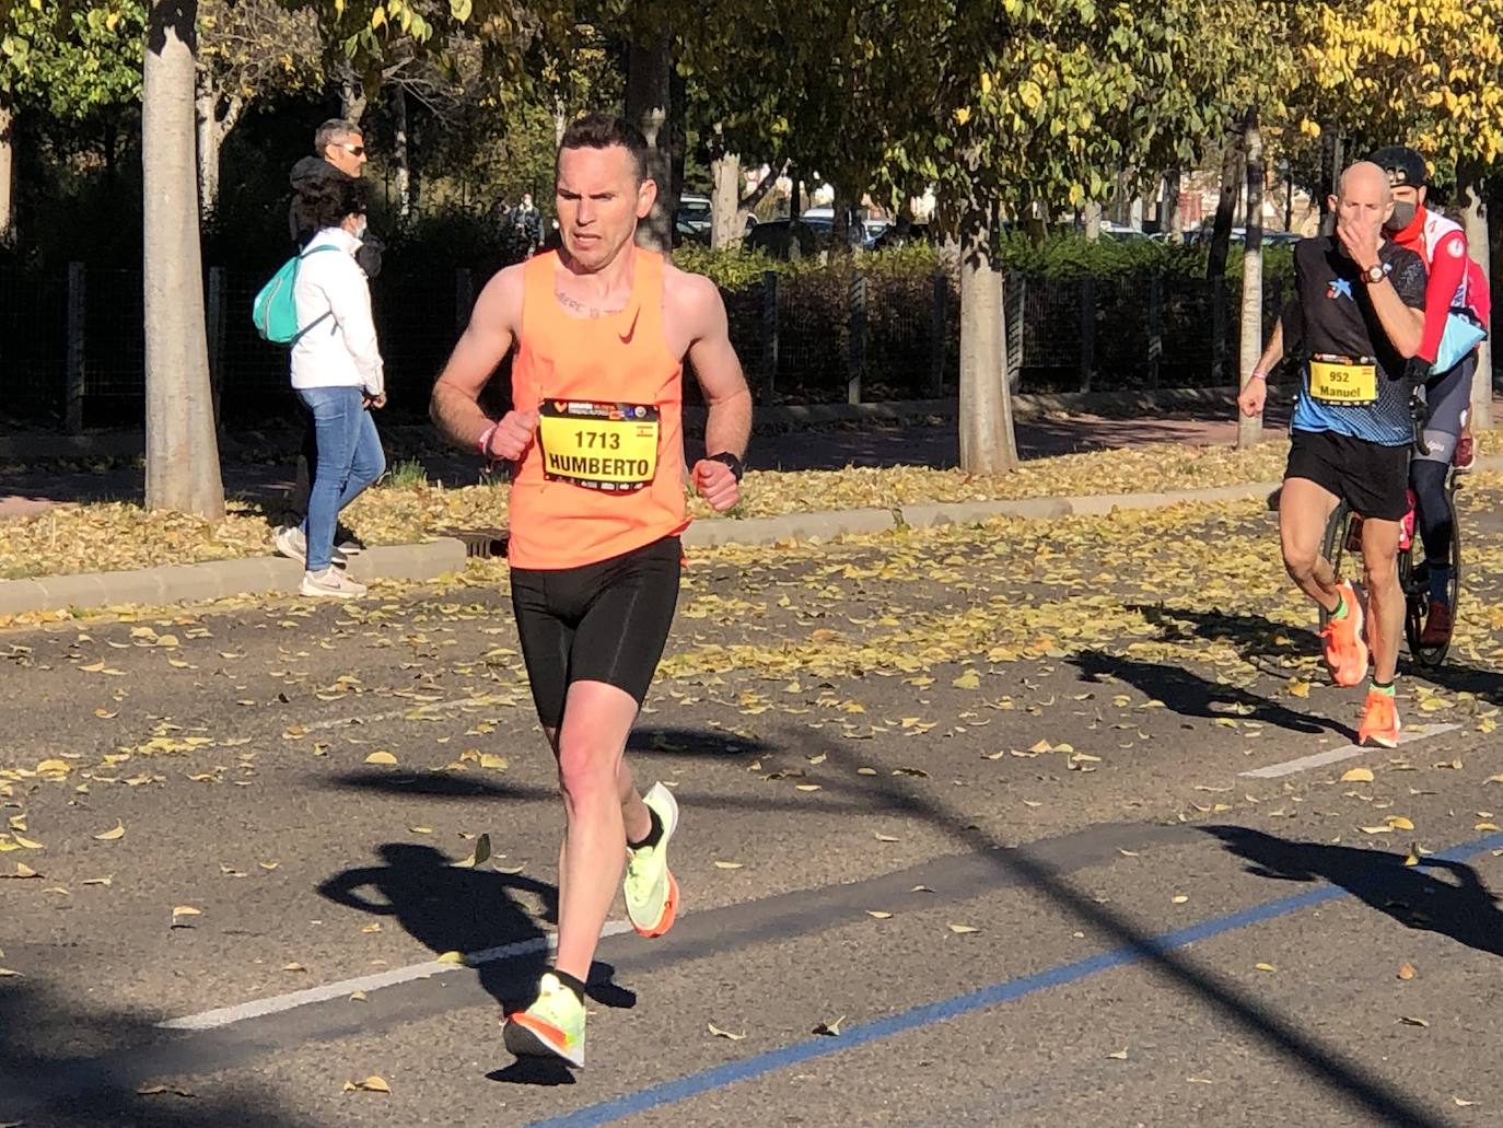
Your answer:
[[[511,599],[538,719],[558,758],[565,835],[552,970],[508,1015],[517,1054],[585,1057],[585,984],[625,865],[627,914],[643,935],[673,923],[661,784],[637,796],[625,744],[673,620],[684,502],[682,364],[708,405],[693,484],[715,510],[739,499],[752,396],[708,278],[636,247],[657,185],[642,132],[592,114],[568,126],[556,164],[562,248],[485,286],[433,390],[457,442],[516,463]],[[476,399],[516,347],[513,409]]]

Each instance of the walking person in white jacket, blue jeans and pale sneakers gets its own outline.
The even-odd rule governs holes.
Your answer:
[[[371,409],[386,406],[370,281],[355,260],[365,232],[358,180],[314,185],[301,200],[317,233],[302,250],[293,299],[302,335],[292,349],[292,387],[313,417],[319,460],[308,516],[277,531],[277,550],[304,564],[302,594],[365,594],[334,567],[340,513],[386,469]]]

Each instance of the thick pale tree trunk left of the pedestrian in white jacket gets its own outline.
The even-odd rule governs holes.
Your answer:
[[[224,517],[194,159],[197,0],[155,0],[141,68],[146,504]]]

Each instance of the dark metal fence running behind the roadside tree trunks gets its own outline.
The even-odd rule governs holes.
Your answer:
[[[210,370],[221,418],[295,415],[287,350],[249,319],[260,275],[206,272]],[[373,284],[391,408],[425,412],[428,390],[484,277],[472,269],[383,272]],[[1009,371],[1021,391],[1193,388],[1235,381],[1240,286],[1132,277],[1009,275]],[[1266,289],[1264,323],[1284,301]],[[724,292],[730,340],[762,403],[876,402],[953,394],[960,302],[945,274],[857,268],[767,274]],[[1217,311],[1217,305],[1220,310]],[[1217,332],[1219,328],[1219,332]],[[1219,344],[1219,347],[1217,347]],[[502,405],[505,381],[493,382]],[[693,387],[687,390],[693,402]],[[135,426],[144,400],[141,275],[74,263],[0,268],[0,424],[63,430]]]

